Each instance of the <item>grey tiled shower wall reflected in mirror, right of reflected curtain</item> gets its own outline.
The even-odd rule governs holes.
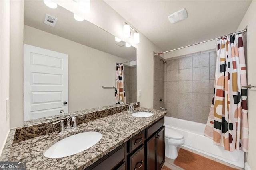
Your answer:
[[[126,103],[137,102],[137,66],[124,65]]]

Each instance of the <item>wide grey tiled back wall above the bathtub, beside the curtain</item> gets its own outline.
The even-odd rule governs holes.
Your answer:
[[[166,60],[167,116],[206,123],[214,93],[216,49]]]

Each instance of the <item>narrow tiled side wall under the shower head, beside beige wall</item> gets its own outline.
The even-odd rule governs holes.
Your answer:
[[[154,109],[164,107],[164,59],[154,57]],[[163,102],[160,102],[160,99]]]

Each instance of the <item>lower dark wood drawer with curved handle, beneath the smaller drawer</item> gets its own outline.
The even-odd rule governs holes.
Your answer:
[[[145,169],[144,145],[129,158],[130,170]]]

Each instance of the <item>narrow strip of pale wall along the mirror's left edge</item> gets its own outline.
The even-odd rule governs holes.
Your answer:
[[[10,2],[10,127],[20,127],[23,125],[23,1]]]

